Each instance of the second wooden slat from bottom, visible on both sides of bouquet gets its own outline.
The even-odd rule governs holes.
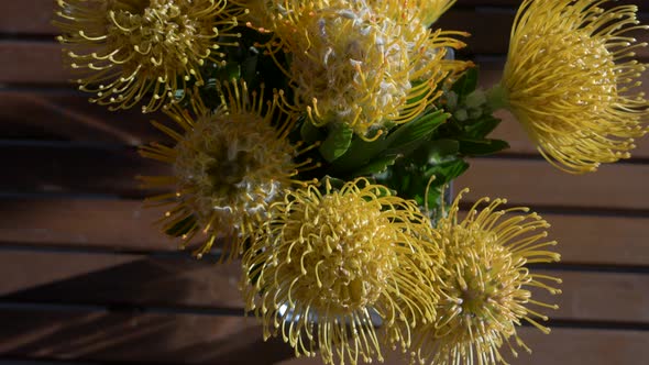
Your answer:
[[[241,264],[187,257],[3,251],[0,299],[14,302],[241,309]],[[559,277],[562,295],[532,298],[560,306],[552,319],[649,323],[649,275],[535,270]],[[603,300],[602,292],[606,292]],[[538,309],[538,308],[535,308]]]

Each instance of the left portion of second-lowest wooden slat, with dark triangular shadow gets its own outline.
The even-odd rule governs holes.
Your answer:
[[[241,264],[206,257],[0,252],[2,301],[232,308],[243,314]]]

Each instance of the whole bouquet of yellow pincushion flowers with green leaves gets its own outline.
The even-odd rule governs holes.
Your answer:
[[[58,0],[79,89],[111,110],[162,111],[169,141],[140,154],[162,230],[201,257],[240,259],[264,338],[327,364],[506,363],[557,306],[560,255],[528,208],[448,185],[508,110],[571,174],[630,156],[649,130],[634,5],[524,0],[503,79],[477,88],[455,57],[454,0]],[[158,113],[160,114],[160,113]],[[161,115],[162,117],[162,115]],[[144,119],[144,118],[143,118]],[[504,346],[505,345],[505,346]]]

